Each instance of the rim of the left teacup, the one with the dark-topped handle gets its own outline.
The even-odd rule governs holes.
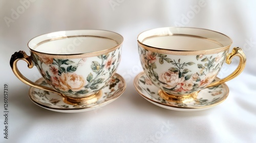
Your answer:
[[[110,47],[109,49],[105,49],[105,50],[101,50],[101,51],[94,51],[94,52],[86,52],[86,53],[75,53],[75,54],[53,54],[53,53],[45,53],[45,52],[39,52],[39,51],[36,51],[34,49],[32,49],[30,46],[29,46],[29,43],[39,37],[39,36],[42,36],[42,35],[47,35],[47,34],[51,34],[51,33],[60,33],[60,32],[71,32],[71,31],[104,31],[104,32],[110,32],[110,33],[113,33],[113,34],[116,34],[118,36],[120,36],[120,43],[117,42],[117,45],[116,46],[113,46],[113,47]],[[92,36],[92,35],[84,35],[84,36]],[[65,37],[65,36],[62,36],[62,37]],[[62,38],[61,36],[59,38]],[[101,36],[94,36],[94,37],[101,37]],[[103,38],[107,38],[107,37],[103,37]],[[108,38],[110,39],[110,38]],[[113,32],[113,31],[109,31],[109,30],[101,30],[101,29],[78,29],[78,30],[61,30],[61,31],[54,31],[54,32],[48,32],[48,33],[44,33],[44,34],[40,34],[40,35],[37,35],[33,38],[31,38],[29,40],[29,42],[27,43],[27,46],[29,47],[29,50],[33,53],[37,53],[37,54],[40,54],[40,55],[44,55],[45,57],[51,57],[51,58],[80,58],[80,57],[94,57],[94,56],[99,56],[99,55],[102,55],[102,54],[106,54],[106,53],[110,53],[112,51],[115,51],[117,49],[119,49],[119,47],[122,46],[123,44],[123,36],[117,32]]]

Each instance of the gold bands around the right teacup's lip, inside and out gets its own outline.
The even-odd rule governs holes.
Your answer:
[[[220,33],[220,32],[217,32],[217,31],[213,31],[213,30],[208,30],[208,29],[201,29],[201,28],[190,28],[190,27],[164,27],[164,28],[157,28],[157,29],[165,29],[165,28],[181,28],[181,29],[199,29],[199,30],[205,30],[205,31],[211,31],[211,32],[215,32],[215,33],[219,33],[225,37],[227,37],[229,40],[230,40],[230,44],[226,45],[226,46],[223,46],[221,43],[215,41],[215,40],[211,40],[209,38],[206,38],[206,37],[201,37],[201,36],[196,36],[196,35],[189,35],[189,34],[173,34],[173,35],[168,35],[168,34],[158,34],[158,35],[154,35],[154,36],[151,36],[151,37],[157,37],[157,36],[189,36],[189,37],[197,37],[197,38],[203,38],[203,39],[206,39],[206,40],[209,40],[209,41],[212,41],[212,42],[215,42],[215,43],[218,43],[219,45],[221,45],[222,47],[219,47],[217,49],[210,49],[210,50],[198,50],[198,51],[186,51],[186,50],[170,50],[170,49],[162,49],[161,47],[154,47],[154,46],[150,46],[150,45],[147,45],[147,44],[143,44],[143,41],[146,39],[146,38],[151,38],[151,37],[146,37],[145,39],[143,39],[142,41],[139,40],[139,36],[144,33],[144,32],[147,32],[147,31],[150,31],[150,30],[146,30],[144,32],[141,32],[138,37],[137,37],[137,42],[138,42],[138,45],[140,47],[142,47],[143,49],[146,49],[146,50],[149,50],[149,51],[152,51],[152,52],[155,52],[155,53],[161,53],[161,54],[172,54],[172,55],[208,55],[208,54],[215,54],[215,53],[219,53],[219,52],[223,52],[223,51],[226,51],[229,49],[230,45],[232,44],[232,39],[230,37],[228,37],[227,35],[223,34],[223,33]],[[151,29],[151,30],[155,30],[155,29]]]

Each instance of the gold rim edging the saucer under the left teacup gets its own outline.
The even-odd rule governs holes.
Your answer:
[[[89,108],[93,108],[93,107],[96,107],[96,106],[101,106],[101,105],[104,105],[104,104],[107,104],[107,103],[109,103],[109,102],[112,102],[112,101],[114,101],[114,100],[116,100],[118,97],[120,97],[121,96],[121,94],[124,92],[124,90],[125,90],[125,88],[126,88],[126,83],[125,83],[125,80],[123,79],[123,77],[122,76],[120,76],[119,74],[115,74],[114,76],[116,76],[120,81],[122,81],[122,83],[123,83],[123,88],[122,88],[122,90],[118,93],[118,94],[116,94],[115,95],[115,97],[113,98],[113,99],[111,99],[111,100],[108,100],[108,101],[105,101],[105,102],[103,102],[103,103],[100,103],[100,104],[97,104],[97,105],[93,105],[93,106],[88,106],[88,107],[82,107],[82,108],[53,108],[53,107],[49,107],[49,106],[46,106],[46,105],[44,105],[44,104],[40,104],[40,103],[38,103],[38,102],[36,102],[35,100],[33,100],[33,95],[31,94],[31,90],[33,90],[34,89],[34,87],[30,87],[30,89],[29,89],[29,98],[30,98],[30,100],[32,101],[32,102],[34,102],[35,104],[37,104],[37,105],[39,105],[39,106],[41,106],[41,107],[44,107],[44,108],[47,108],[47,109],[54,109],[54,110],[63,110],[63,111],[65,111],[65,110],[83,110],[83,109],[89,109]],[[38,79],[36,82],[41,82],[42,80],[44,80],[44,78],[40,78],[40,79]],[[60,96],[61,97],[61,96]],[[61,100],[62,101],[62,100]]]

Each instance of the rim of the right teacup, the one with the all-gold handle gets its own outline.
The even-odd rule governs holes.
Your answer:
[[[165,29],[165,28],[181,28],[181,29],[188,28],[188,29],[199,29],[199,30],[211,31],[211,32],[215,32],[215,33],[218,33],[218,34],[221,34],[221,35],[227,37],[230,40],[230,43],[228,45],[226,45],[226,46],[222,46],[222,47],[219,47],[219,48],[216,48],[216,49],[210,49],[210,50],[175,50],[175,49],[164,49],[164,48],[161,48],[161,47],[151,46],[151,45],[148,45],[148,44],[144,44],[142,41],[139,40],[139,36],[142,33],[144,33],[144,32],[147,32],[147,31],[150,31],[150,30],[156,30],[156,29]],[[204,38],[204,37],[202,37],[202,38]],[[150,51],[156,52],[156,53],[172,54],[172,55],[200,55],[200,54],[204,55],[204,54],[215,54],[215,53],[219,53],[219,52],[223,52],[223,51],[228,50],[229,47],[232,44],[232,39],[229,36],[227,36],[227,35],[225,35],[225,34],[223,34],[221,32],[217,32],[217,31],[209,30],[209,29],[204,29],[204,28],[195,28],[195,27],[161,27],[161,28],[148,29],[148,30],[145,30],[145,31],[139,33],[138,36],[137,36],[137,42],[144,49],[150,50]]]

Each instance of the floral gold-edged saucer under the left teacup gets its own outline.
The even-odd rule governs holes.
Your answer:
[[[49,86],[45,82],[44,78],[40,78],[36,81],[36,83]],[[87,105],[70,105],[64,103],[62,101],[62,97],[59,94],[34,87],[30,87],[29,97],[36,105],[48,110],[66,113],[84,112],[100,108],[113,102],[121,96],[125,87],[126,83],[124,79],[120,75],[115,74],[111,81],[101,89],[102,96],[96,102]]]

